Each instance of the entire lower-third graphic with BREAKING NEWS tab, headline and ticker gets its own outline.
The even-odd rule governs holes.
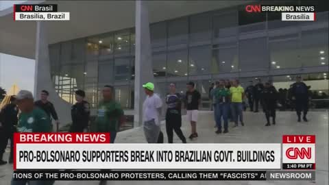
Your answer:
[[[314,170],[280,171],[282,153],[297,159],[293,162],[298,168],[289,169],[310,169],[306,162],[311,162],[315,147],[305,145],[315,145],[315,136],[283,136],[282,143],[113,144],[109,133],[14,133],[13,177],[15,180],[315,180]],[[304,151],[302,147],[310,149]],[[315,167],[315,162],[312,164]]]

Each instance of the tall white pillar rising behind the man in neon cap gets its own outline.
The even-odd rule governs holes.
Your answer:
[[[154,83],[147,1],[136,1],[135,27],[134,127],[138,127],[143,121],[143,101],[146,97],[142,85],[146,82]]]

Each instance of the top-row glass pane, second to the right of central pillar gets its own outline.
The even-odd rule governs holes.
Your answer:
[[[186,44],[188,40],[188,20],[179,18],[168,22],[168,44]]]

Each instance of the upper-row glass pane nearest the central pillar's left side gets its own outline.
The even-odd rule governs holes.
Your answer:
[[[124,30],[124,31],[118,32],[114,35],[114,52],[116,54],[130,52],[130,32],[129,32],[129,30]]]

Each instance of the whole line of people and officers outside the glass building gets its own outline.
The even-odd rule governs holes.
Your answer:
[[[145,95],[143,103],[143,131],[147,143],[163,143],[163,134],[160,130],[160,115],[162,110],[162,99],[154,93],[155,86],[148,82],[143,85]],[[290,100],[295,105],[297,112],[297,121],[308,121],[306,114],[308,111],[308,86],[297,77],[297,82],[292,84],[289,89]],[[119,128],[125,122],[125,116],[120,104],[115,101],[114,87],[103,86],[103,99],[100,101],[95,121],[95,132],[109,132],[110,143],[114,140],[119,132]],[[72,124],[69,132],[86,132],[90,121],[90,105],[85,100],[84,90],[75,91],[76,103],[71,108]],[[59,124],[58,114],[48,100],[49,92],[42,90],[40,100],[34,101],[34,97],[28,90],[21,90],[16,96],[10,97],[10,103],[0,112],[0,165],[6,164],[3,160],[3,153],[8,140],[10,140],[10,158],[9,163],[13,162],[13,134],[14,132],[53,132],[52,122]],[[239,80],[219,80],[210,89],[210,98],[215,117],[215,127],[217,134],[228,133],[229,120],[234,122],[234,127],[239,123],[244,126],[243,110],[245,109],[244,99],[248,100],[251,111],[258,112],[259,104],[265,112],[267,120],[266,126],[276,124],[276,108],[278,104],[285,105],[282,102],[279,92],[270,83],[263,84],[258,79],[257,84],[250,82],[249,86],[244,89]],[[191,134],[188,138],[191,140],[197,138],[197,116],[201,104],[201,95],[195,88],[195,83],[186,84],[186,94],[181,95],[176,92],[174,83],[169,85],[169,93],[165,97],[167,111],[165,116],[166,132],[168,143],[173,143],[173,132],[175,132],[182,143],[186,143],[186,138],[181,130],[182,126],[182,106],[186,109],[186,118],[191,124]],[[20,113],[19,113],[20,110]],[[52,121],[52,119],[54,121]],[[223,121],[223,130],[222,123]],[[57,127],[58,130],[58,127]],[[48,182],[40,182],[47,184]],[[53,182],[49,182],[52,184]],[[12,181],[12,184],[25,184],[25,182]],[[38,184],[38,183],[36,183]],[[104,182],[100,182],[104,184]]]

